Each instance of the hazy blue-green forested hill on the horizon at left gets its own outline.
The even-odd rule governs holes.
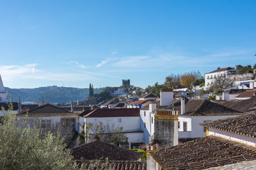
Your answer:
[[[63,86],[46,86],[35,89],[10,89],[5,87],[11,95],[11,101],[18,101],[18,96],[21,96],[21,102],[33,101],[41,102],[50,101],[50,103],[70,103],[70,101],[83,101],[89,95],[89,89],[78,89],[73,87]],[[94,89],[97,94],[104,88]]]

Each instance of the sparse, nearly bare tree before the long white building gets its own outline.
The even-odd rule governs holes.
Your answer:
[[[114,123],[110,126],[109,124],[104,125],[100,123],[88,123],[86,125],[85,139],[94,141],[100,140],[102,142],[124,142],[126,140],[126,134],[122,127],[115,127]]]

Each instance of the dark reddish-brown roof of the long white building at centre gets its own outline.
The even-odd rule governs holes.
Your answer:
[[[84,118],[133,117],[139,116],[139,108],[97,108]]]

